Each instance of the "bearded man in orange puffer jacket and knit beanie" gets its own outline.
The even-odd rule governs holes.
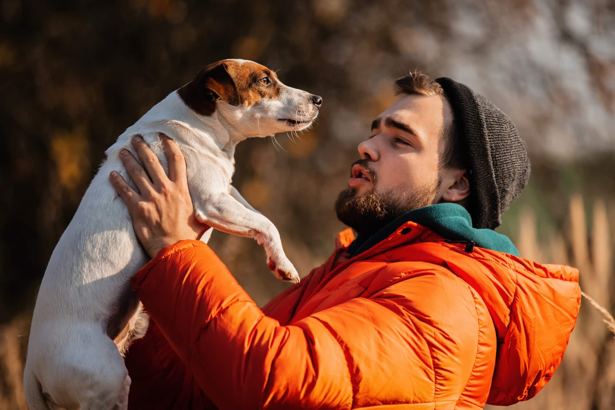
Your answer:
[[[262,310],[195,240],[177,146],[167,178],[135,142],[154,183],[111,175],[154,258],[132,278],[151,322],[126,358],[131,408],[482,409],[544,387],[581,291],[576,269],[493,231],[528,180],[525,144],[466,85],[415,73],[395,90],[336,201],[357,239],[341,232]]]

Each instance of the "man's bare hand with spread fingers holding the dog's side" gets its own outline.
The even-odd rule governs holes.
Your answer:
[[[209,227],[194,216],[186,160],[180,148],[175,141],[162,135],[162,146],[169,160],[167,177],[158,157],[141,136],[135,136],[132,144],[145,170],[130,151],[122,150],[120,157],[139,192],[135,192],[116,171],[112,171],[109,178],[130,211],[143,248],[154,258],[165,246],[182,239],[199,239]]]

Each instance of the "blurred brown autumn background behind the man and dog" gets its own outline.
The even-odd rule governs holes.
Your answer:
[[[395,100],[394,79],[418,69],[470,85],[514,120],[533,175],[498,231],[522,256],[581,267],[582,286],[612,309],[614,44],[611,0],[0,0],[0,408],[25,406],[38,285],[105,149],[223,58],[323,97],[312,130],[277,136],[284,149],[255,138],[236,154],[234,185],[276,224],[300,275],[343,228],[333,202],[357,143]],[[252,240],[215,232],[210,244],[258,304],[286,286]],[[614,349],[584,307],[561,370],[517,407],[614,408]]]

